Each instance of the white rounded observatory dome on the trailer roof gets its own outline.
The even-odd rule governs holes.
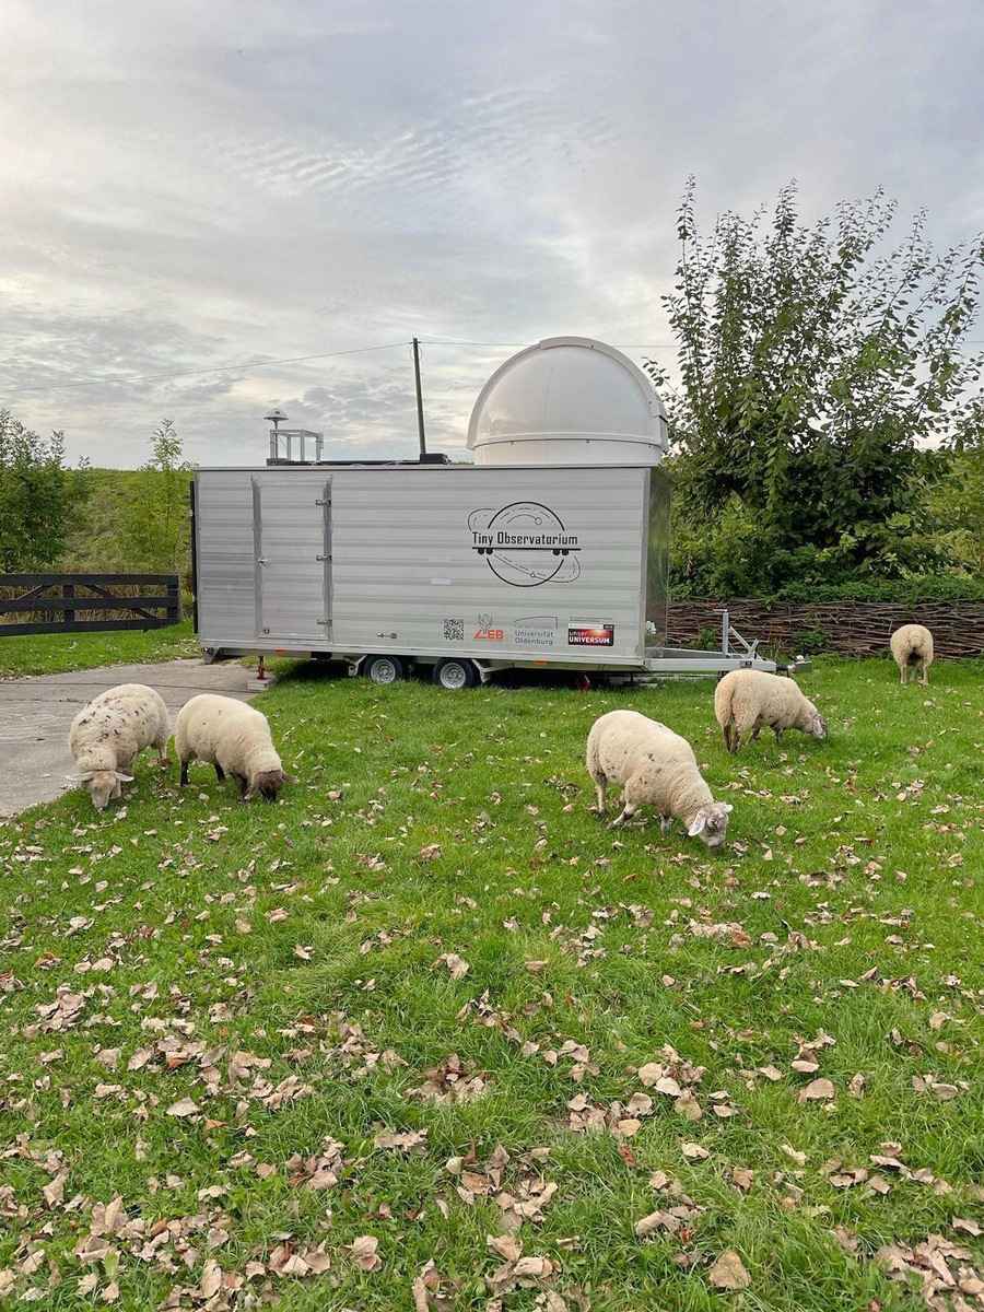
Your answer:
[[[548,337],[513,356],[468,422],[476,464],[659,464],[666,445],[649,379],[590,337]]]

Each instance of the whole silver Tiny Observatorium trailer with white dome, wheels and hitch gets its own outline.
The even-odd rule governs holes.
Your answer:
[[[377,682],[424,666],[445,687],[516,666],[777,668],[754,643],[665,646],[666,415],[604,342],[551,337],[497,369],[468,424],[474,464],[325,462],[320,441],[300,463],[276,436],[265,468],[194,476],[207,657],[328,657]]]

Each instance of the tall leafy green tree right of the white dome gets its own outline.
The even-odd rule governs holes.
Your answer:
[[[796,202],[790,184],[770,219],[726,213],[701,236],[690,180],[665,298],[678,390],[647,363],[668,395],[690,526],[729,514],[719,546],[744,590],[787,571],[836,581],[939,567],[921,443],[956,442],[975,419],[981,361],[962,346],[984,240],[937,256],[920,214],[886,248],[896,207],[882,192],[812,228]]]

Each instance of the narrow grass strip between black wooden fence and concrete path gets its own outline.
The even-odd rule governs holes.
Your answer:
[[[192,621],[165,628],[105,634],[28,634],[4,638],[0,628],[0,678],[63,674],[98,665],[129,665],[198,656]]]

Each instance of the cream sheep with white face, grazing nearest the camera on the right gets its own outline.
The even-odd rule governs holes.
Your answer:
[[[609,829],[621,828],[642,806],[682,820],[687,834],[698,834],[714,850],[724,842],[731,803],[715,802],[701,777],[693,748],[665,724],[638,711],[609,711],[588,735],[588,773],[598,790],[597,813],[605,813],[609,783],[623,786],[622,813]]]

